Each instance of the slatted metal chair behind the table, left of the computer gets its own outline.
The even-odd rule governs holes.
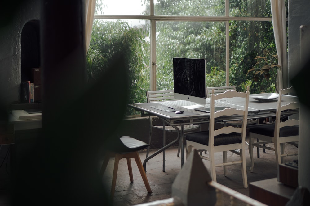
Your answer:
[[[146,91],[146,97],[148,102],[158,102],[158,101],[172,101],[172,100],[179,100],[174,98],[173,94],[174,90],[158,90],[158,91]],[[175,130],[175,128],[171,126],[164,125],[164,121],[161,125],[153,125],[153,118],[154,116],[150,116],[150,133],[149,133],[149,139],[148,144],[151,145],[151,138],[152,138],[152,129],[159,129],[162,130],[162,137],[163,137],[163,146],[166,144],[166,132],[176,132],[179,136],[179,131]],[[163,126],[164,125],[164,126]],[[181,130],[181,126],[177,126],[179,130]],[[186,132],[193,131],[197,128],[199,128],[199,125],[195,124],[188,124],[184,125],[184,135]],[[180,142],[179,142],[179,149],[177,156],[179,157],[180,154]],[[150,147],[147,148],[146,157],[148,157]],[[165,171],[165,151],[163,151],[163,166],[162,171]]]

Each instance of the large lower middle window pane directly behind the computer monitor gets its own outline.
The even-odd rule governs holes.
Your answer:
[[[157,22],[157,90],[173,89],[173,57],[206,59],[206,85],[225,85],[225,23]]]

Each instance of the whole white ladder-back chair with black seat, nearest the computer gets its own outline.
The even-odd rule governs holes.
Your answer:
[[[222,98],[241,97],[244,98],[244,106],[241,108],[225,108],[224,110],[215,112],[215,102]],[[223,166],[224,175],[226,176],[226,166],[241,164],[241,174],[243,179],[243,187],[247,188],[246,177],[246,119],[248,116],[248,104],[249,104],[249,87],[247,87],[246,93],[237,92],[236,90],[225,91],[215,95],[214,89],[211,94],[210,101],[210,123],[209,130],[202,132],[194,132],[186,135],[186,155],[188,155],[193,148],[200,150],[207,150],[208,156],[201,156],[203,159],[210,161],[210,170],[212,180],[216,182],[215,167]],[[220,116],[242,116],[243,124],[241,127],[224,126],[219,129],[215,129],[215,119]],[[240,150],[240,161],[227,162],[227,151]],[[215,164],[214,155],[216,152],[223,152],[223,163]]]

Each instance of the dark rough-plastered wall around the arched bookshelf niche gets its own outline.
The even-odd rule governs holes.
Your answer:
[[[0,94],[5,105],[20,100],[20,37],[27,22],[40,20],[40,2],[16,1],[11,15],[0,25]]]

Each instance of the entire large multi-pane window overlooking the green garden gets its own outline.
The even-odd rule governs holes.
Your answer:
[[[173,57],[205,58],[206,86],[274,89],[275,72],[257,72],[264,59],[255,59],[276,53],[269,0],[97,0],[91,78],[124,46],[128,103],[146,102],[146,90],[173,89]]]

